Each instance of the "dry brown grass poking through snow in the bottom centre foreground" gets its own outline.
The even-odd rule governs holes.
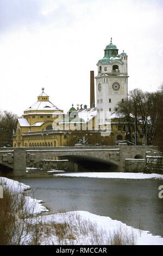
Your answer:
[[[57,221],[41,220],[40,242],[45,245],[135,245],[133,232],[122,227],[112,233],[99,229],[96,223],[82,220],[77,212],[61,214]]]

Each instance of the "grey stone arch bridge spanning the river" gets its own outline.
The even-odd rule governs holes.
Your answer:
[[[10,170],[13,176],[26,175],[26,166],[52,157],[62,157],[76,164],[94,162],[108,164],[125,172],[126,159],[145,159],[147,151],[156,150],[153,146],[79,146],[79,147],[41,147],[41,148],[0,148],[0,170]],[[77,169],[76,169],[77,170]]]

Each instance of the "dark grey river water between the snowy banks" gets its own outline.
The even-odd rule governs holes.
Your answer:
[[[43,200],[50,213],[83,210],[109,216],[135,228],[163,237],[163,199],[160,180],[98,178],[21,178]]]

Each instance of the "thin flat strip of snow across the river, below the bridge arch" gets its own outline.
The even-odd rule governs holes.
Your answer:
[[[145,173],[64,173],[54,174],[55,176],[85,177],[85,178],[106,178],[106,179],[163,179],[162,174]]]

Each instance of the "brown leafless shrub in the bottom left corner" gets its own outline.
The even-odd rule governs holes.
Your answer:
[[[3,199],[0,200],[0,245],[28,244],[33,236],[36,236],[35,225],[31,218],[35,216],[34,205],[29,213],[29,204],[23,193],[18,193],[4,184],[1,185]]]

